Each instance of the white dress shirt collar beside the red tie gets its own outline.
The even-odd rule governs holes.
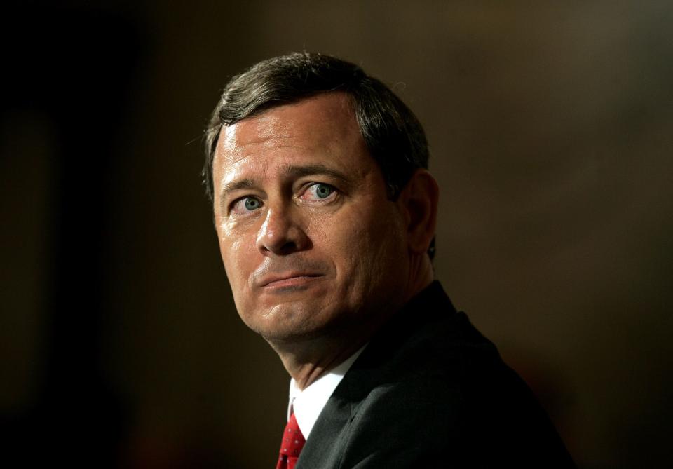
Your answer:
[[[290,416],[294,412],[299,430],[306,440],[308,440],[308,435],[313,430],[313,425],[318,420],[320,412],[322,412],[322,407],[325,407],[327,400],[337,389],[341,379],[344,378],[344,374],[351,368],[355,359],[360,356],[366,346],[367,344],[362,346],[360,350],[341,362],[341,365],[330,369],[329,372],[313,381],[304,390],[297,387],[294,378],[290,380],[290,402],[287,405],[287,420],[290,420]]]

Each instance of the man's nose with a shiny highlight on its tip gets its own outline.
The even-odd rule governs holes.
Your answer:
[[[257,249],[265,256],[292,254],[308,249],[311,245],[301,220],[292,208],[270,208],[257,233]]]

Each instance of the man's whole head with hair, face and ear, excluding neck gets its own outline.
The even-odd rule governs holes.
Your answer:
[[[355,65],[255,65],[226,86],[206,149],[236,306],[269,341],[366,336],[427,277],[437,186],[423,130]]]

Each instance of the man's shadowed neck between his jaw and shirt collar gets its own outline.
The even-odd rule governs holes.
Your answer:
[[[349,322],[337,331],[318,337],[287,341],[267,339],[299,389],[304,390],[320,376],[340,365],[367,344],[390,316],[432,283],[434,272],[430,258],[423,255],[411,260],[409,271],[413,275],[407,279],[405,287],[402,288],[402,294],[388,304],[375,308],[378,314],[366,315],[369,318],[368,321],[362,320],[365,317],[362,315],[357,324]]]

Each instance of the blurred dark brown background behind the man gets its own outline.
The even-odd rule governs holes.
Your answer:
[[[437,277],[583,468],[672,461],[669,1],[10,2],[0,19],[2,467],[271,468],[287,375],[200,186],[219,90],[292,50],[425,125]]]

